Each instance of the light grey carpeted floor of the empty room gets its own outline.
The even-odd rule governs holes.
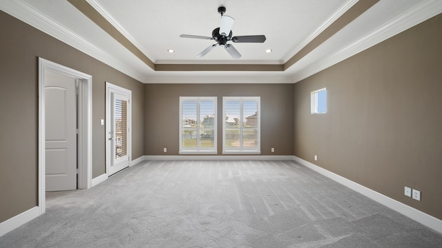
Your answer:
[[[442,247],[294,161],[149,161],[46,203],[0,247]]]

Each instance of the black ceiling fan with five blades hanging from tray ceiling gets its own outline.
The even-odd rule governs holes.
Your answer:
[[[217,43],[213,45],[209,45],[209,48],[204,49],[200,54],[197,55],[198,58],[208,54],[213,48],[217,45],[222,45],[229,52],[229,54],[233,57],[233,59],[239,59],[241,54],[236,50],[232,44],[227,44],[227,41],[232,41],[234,43],[263,43],[265,41],[265,35],[246,35],[246,36],[237,36],[232,37],[231,28],[233,26],[233,19],[227,15],[224,15],[226,12],[226,8],[221,6],[218,8],[218,13],[221,14],[221,23],[220,28],[215,28],[212,31],[212,37],[203,37],[199,35],[190,35],[190,34],[181,34],[182,38],[193,38],[193,39],[208,39],[214,40]]]

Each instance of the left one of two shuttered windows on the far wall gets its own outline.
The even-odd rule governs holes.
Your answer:
[[[216,97],[180,97],[180,154],[216,154]]]

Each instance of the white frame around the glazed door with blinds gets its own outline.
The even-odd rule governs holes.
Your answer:
[[[111,131],[111,111],[112,107],[109,105],[110,101],[110,90],[117,90],[128,94],[128,110],[127,110],[127,125],[128,125],[128,137],[127,137],[127,154],[128,154],[128,167],[131,166],[132,159],[132,91],[113,83],[106,82],[106,175],[111,176],[109,168],[111,167],[111,145],[108,141],[108,134]]]

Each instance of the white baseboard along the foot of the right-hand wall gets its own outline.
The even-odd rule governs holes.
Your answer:
[[[430,227],[434,231],[437,231],[440,234],[442,234],[442,220],[439,220],[438,218],[435,218],[434,216],[430,216],[429,214],[425,214],[423,211],[420,211],[418,209],[415,209],[413,207],[405,205],[405,204],[403,204],[397,200],[394,200],[393,198],[385,196],[379,192],[375,192],[372,189],[369,189],[363,185],[355,183],[354,181],[349,180],[343,176],[339,176],[338,174],[334,174],[333,172],[330,172],[327,169],[319,167],[318,165],[314,165],[313,163],[310,163],[309,161],[305,161],[302,158],[298,158],[297,156],[294,156],[294,161],[300,163],[301,165],[305,165],[305,167],[313,169],[315,172],[318,172],[319,174],[323,174],[324,176],[327,176],[328,178],[335,180],[336,182],[338,182],[346,187],[349,187],[350,189],[353,189],[354,191],[361,193],[364,196],[367,196],[368,198],[371,198],[372,200],[375,200],[376,202],[381,203],[382,205],[385,205],[386,207],[390,207],[391,209],[394,209],[394,211],[398,211],[399,213],[407,216],[408,218],[411,218],[412,220],[416,220],[417,222],[421,223],[422,225]]]

